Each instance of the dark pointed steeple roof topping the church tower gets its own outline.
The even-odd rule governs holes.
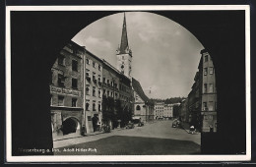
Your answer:
[[[129,44],[128,44],[126,19],[125,19],[125,13],[124,13],[123,29],[122,29],[122,36],[121,36],[121,44],[119,47],[119,54],[127,54],[129,52],[130,52],[130,49],[129,49]]]

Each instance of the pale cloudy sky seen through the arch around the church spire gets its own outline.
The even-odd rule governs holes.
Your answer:
[[[186,28],[157,14],[126,12],[132,77],[150,98],[187,96],[204,48]],[[97,20],[72,40],[116,67],[124,13]]]

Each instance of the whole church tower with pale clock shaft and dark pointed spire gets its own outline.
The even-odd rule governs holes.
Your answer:
[[[125,13],[124,13],[124,19],[123,19],[121,43],[116,50],[116,56],[117,56],[117,70],[119,70],[122,74],[124,74],[126,77],[128,77],[131,80],[132,79],[131,77],[132,51],[129,48],[129,44],[128,44]]]

